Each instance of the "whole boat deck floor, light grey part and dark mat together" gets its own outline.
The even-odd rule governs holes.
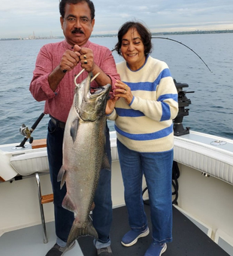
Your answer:
[[[145,210],[150,224],[150,206],[145,205]],[[202,232],[192,221],[189,221],[176,208],[173,210],[174,228],[173,242],[168,244],[165,256],[227,256],[229,255]],[[143,256],[151,242],[151,234],[138,240],[137,244],[126,248],[121,245],[120,240],[124,233],[129,231],[126,206],[113,209],[113,225],[110,233],[114,256],[137,255]],[[4,233],[0,237],[1,256],[41,256],[53,246],[55,241],[54,223],[47,223],[47,235],[49,242],[43,243],[41,225],[26,227],[20,230],[14,230]],[[78,243],[67,256],[94,256],[95,247],[92,245],[92,237],[81,237]]]

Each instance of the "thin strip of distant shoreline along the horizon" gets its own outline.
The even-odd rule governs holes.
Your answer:
[[[180,31],[180,32],[156,32],[151,33],[152,35],[199,35],[199,34],[225,34],[225,33],[233,33],[232,30],[196,30],[196,31]],[[91,38],[107,38],[107,37],[116,37],[116,34],[106,34],[106,35],[91,35]],[[8,40],[35,40],[35,39],[56,39],[56,38],[64,38],[64,36],[30,36],[29,38],[0,38],[0,41],[8,41]]]

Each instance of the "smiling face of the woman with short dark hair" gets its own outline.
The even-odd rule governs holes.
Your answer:
[[[123,35],[120,50],[130,69],[135,71],[144,65],[146,59],[144,48],[144,44],[137,29],[131,28]]]

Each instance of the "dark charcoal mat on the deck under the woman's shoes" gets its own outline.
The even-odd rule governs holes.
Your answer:
[[[151,230],[150,206],[145,205],[148,224]],[[121,245],[122,236],[129,231],[126,206],[113,209],[113,224],[110,233],[111,248],[114,256],[144,256],[150,245],[151,234],[138,239],[131,247]],[[84,256],[96,255],[93,239],[90,236],[78,239]],[[168,243],[162,256],[228,256],[222,248],[203,233],[192,221],[173,207],[173,242]]]

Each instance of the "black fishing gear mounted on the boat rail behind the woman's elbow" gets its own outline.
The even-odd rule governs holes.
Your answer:
[[[194,93],[192,92],[187,92],[183,90],[183,87],[189,87],[189,84],[181,84],[177,83],[174,79],[174,84],[177,87],[177,93],[178,93],[178,106],[179,106],[179,111],[177,114],[177,117],[174,118],[174,136],[182,136],[184,134],[189,134],[189,127],[186,127],[186,129],[183,128],[183,117],[189,115],[189,108],[186,108],[191,104],[191,100],[186,97],[186,93]]]

